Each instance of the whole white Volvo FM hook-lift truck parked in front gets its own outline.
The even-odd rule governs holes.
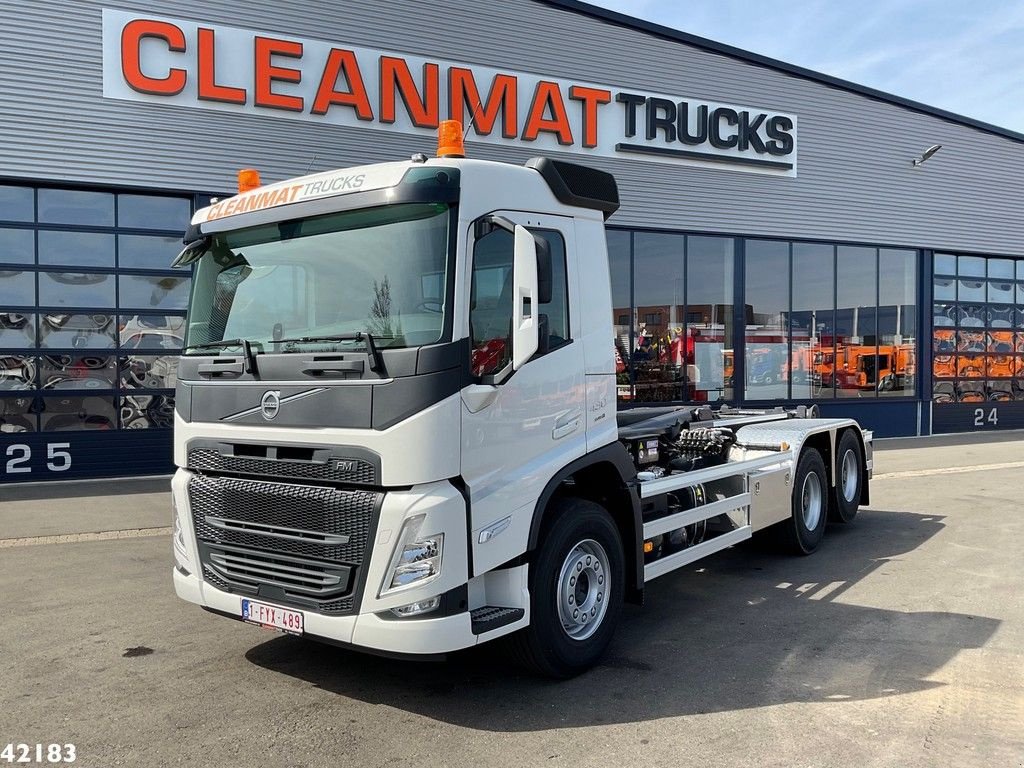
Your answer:
[[[854,518],[852,420],[616,413],[609,174],[449,143],[193,219],[178,596],[399,656],[508,636],[567,677],[652,579],[755,534],[809,554]]]

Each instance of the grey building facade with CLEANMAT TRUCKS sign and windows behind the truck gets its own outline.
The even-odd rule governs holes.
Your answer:
[[[1024,426],[1024,136],[572,0],[112,6],[0,0],[0,482],[168,471],[190,213],[450,117],[615,175],[624,407]]]

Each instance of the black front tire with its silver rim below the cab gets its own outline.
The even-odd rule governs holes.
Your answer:
[[[566,499],[549,514],[529,569],[529,626],[510,642],[522,666],[565,679],[597,664],[611,640],[626,589],[625,556],[603,507]]]

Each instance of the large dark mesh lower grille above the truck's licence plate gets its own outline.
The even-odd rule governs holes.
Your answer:
[[[382,497],[194,475],[188,499],[203,573],[230,592],[351,612]]]

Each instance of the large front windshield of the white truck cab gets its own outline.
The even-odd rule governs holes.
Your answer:
[[[193,279],[186,346],[244,339],[289,351],[368,332],[382,348],[441,341],[450,210],[381,206],[213,236]]]

